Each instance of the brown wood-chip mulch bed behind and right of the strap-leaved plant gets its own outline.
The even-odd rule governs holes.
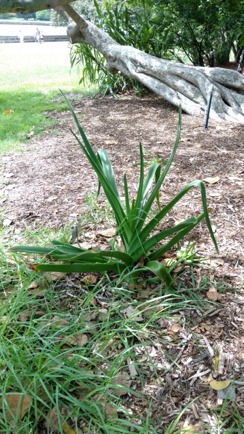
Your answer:
[[[124,196],[123,175],[126,172],[129,190],[132,197],[135,196],[139,168],[133,163],[139,161],[139,142],[158,159],[167,160],[176,136],[178,110],[156,96],[139,98],[126,95],[119,99],[107,97],[103,100],[83,98],[79,94],[71,94],[69,97],[73,100],[73,108],[94,149],[107,150],[119,193]],[[54,127],[40,137],[29,139],[29,142],[22,146],[23,152],[2,158],[0,197],[3,197],[2,206],[6,217],[15,227],[16,239],[19,229],[25,225],[37,227],[38,224],[58,228],[67,222],[79,220],[82,214],[87,212],[86,194],[97,191],[95,173],[69,130],[71,127],[76,132],[70,112],[47,113],[47,116],[50,115],[57,121]],[[196,227],[192,238],[197,240],[201,254],[212,260],[200,274],[207,273],[213,281],[224,281],[227,290],[221,310],[215,307],[215,313],[208,317],[205,329],[199,330],[199,339],[204,335],[204,339],[199,342],[205,350],[208,350],[209,346],[216,348],[218,343],[221,344],[229,361],[228,366],[225,366],[225,374],[227,377],[229,374],[230,378],[237,375],[237,378],[241,379],[244,356],[244,299],[241,281],[244,264],[244,126],[209,121],[208,128],[204,129],[203,122],[203,117],[193,118],[182,114],[178,150],[163,184],[160,200],[162,205],[167,204],[181,188],[195,179],[219,178],[216,178],[215,183],[204,181],[219,254],[204,222]],[[145,160],[151,161],[153,157],[145,154]],[[102,193],[100,201],[105,203]],[[198,215],[201,211],[200,190],[194,187],[169,213],[164,224],[173,225],[175,221]],[[99,229],[101,228],[107,228],[106,222],[100,224]],[[80,234],[79,241],[87,241],[85,234]],[[187,243],[187,240],[184,241]],[[235,296],[233,287],[238,288],[238,296]],[[214,316],[216,313],[218,315]],[[184,335],[181,337],[183,341]],[[184,349],[185,346],[180,348]],[[177,363],[180,365],[182,352],[179,353],[178,346],[175,351],[179,356]],[[161,356],[156,351],[155,359],[153,355],[151,357],[156,360]],[[172,358],[175,358],[173,353]],[[196,363],[191,375],[198,372],[200,364],[200,372],[209,368],[209,359],[202,358]],[[188,369],[186,363],[180,366],[185,371]],[[178,414],[178,404],[171,393],[176,390],[172,378],[170,377],[170,383],[169,379],[167,382],[157,393],[155,386],[152,386],[150,393],[155,392],[158,408],[164,409],[162,419],[171,420]],[[237,390],[236,402],[239,402],[239,409],[244,395],[241,384],[243,385],[241,382],[237,385],[239,391]],[[194,390],[194,385],[192,381],[189,387]],[[150,389],[149,383],[148,388]],[[195,389],[190,398],[197,394]],[[205,418],[208,423],[211,418],[208,409],[216,404],[214,394],[209,394],[202,400],[200,410],[203,409],[203,418],[200,415],[200,419],[204,421]],[[197,420],[196,414],[197,411],[199,414],[200,410],[199,407],[198,410],[191,410],[195,415],[192,420],[194,417],[195,421]]]

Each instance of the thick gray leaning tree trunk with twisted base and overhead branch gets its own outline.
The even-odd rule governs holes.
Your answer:
[[[72,0],[71,0],[72,1]],[[120,46],[96,25],[86,21],[69,3],[69,0],[0,0],[3,9],[18,13],[56,8],[72,19],[67,29],[70,42],[88,44],[98,49],[106,58],[111,73],[121,71],[140,81],[148,89],[162,96],[191,115],[203,115],[214,86],[210,119],[244,123],[244,77],[237,71],[222,68],[202,68],[164,61],[131,46]],[[10,5],[13,8],[10,10]],[[17,5],[17,6],[16,6]]]

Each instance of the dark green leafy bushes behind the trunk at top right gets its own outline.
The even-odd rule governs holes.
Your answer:
[[[243,1],[160,0],[153,10],[155,22],[162,25],[163,55],[194,65],[229,61],[243,28]]]

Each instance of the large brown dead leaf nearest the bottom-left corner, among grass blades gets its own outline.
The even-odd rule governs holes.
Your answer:
[[[29,395],[23,395],[23,393],[6,393],[2,395],[2,400],[3,399],[8,402],[12,413],[15,416],[17,415],[18,419],[22,419],[32,403],[32,397]],[[4,407],[5,414],[11,417],[11,413],[6,409],[6,404]],[[1,402],[0,408],[3,408],[3,402]]]

